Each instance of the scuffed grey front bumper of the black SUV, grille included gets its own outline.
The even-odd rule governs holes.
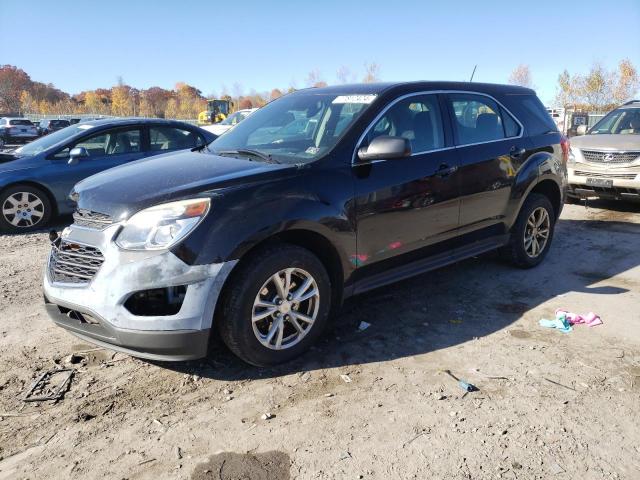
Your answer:
[[[113,242],[119,228],[72,225],[56,240],[44,274],[49,316],[89,342],[133,356],[204,357],[236,262],[192,266],[166,250],[121,250]]]

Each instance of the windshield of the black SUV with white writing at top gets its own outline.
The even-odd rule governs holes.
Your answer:
[[[282,163],[311,162],[331,150],[374,99],[375,95],[286,95],[252,113],[209,148],[214,153],[254,150]]]

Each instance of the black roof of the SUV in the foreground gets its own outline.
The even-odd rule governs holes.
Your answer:
[[[312,87],[297,90],[293,94],[326,93],[332,95],[378,95],[389,90],[463,90],[481,93],[511,93],[511,94],[535,94],[530,88],[516,85],[502,85],[497,83],[478,82],[450,82],[450,81],[415,81],[415,82],[380,82],[380,83],[355,83],[346,85],[332,85],[329,87]]]

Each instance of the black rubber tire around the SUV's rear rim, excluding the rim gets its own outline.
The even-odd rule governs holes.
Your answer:
[[[542,253],[535,258],[527,255],[527,252],[524,248],[524,235],[527,228],[527,220],[531,216],[531,213],[537,208],[544,208],[549,215],[549,238],[547,239],[547,243],[542,250]],[[510,245],[510,253],[512,260],[520,267],[523,268],[531,268],[540,264],[549,253],[549,249],[551,248],[551,243],[553,242],[553,234],[555,231],[555,211],[553,209],[553,205],[549,199],[537,193],[532,193],[529,195],[527,200],[524,202],[522,209],[518,215],[518,219],[514,226],[512,237],[511,237],[511,245]]]

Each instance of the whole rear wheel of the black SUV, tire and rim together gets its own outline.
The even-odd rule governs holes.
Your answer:
[[[532,217],[532,215],[536,216]],[[532,229],[532,224],[538,223],[540,218],[546,220],[542,221],[541,226]],[[549,199],[539,193],[530,194],[522,205],[516,223],[511,229],[511,239],[503,249],[504,256],[520,268],[532,268],[540,264],[551,247],[555,223],[555,213]],[[546,241],[541,245],[545,229]],[[535,237],[535,242],[526,242],[532,236]],[[537,249],[534,243],[537,243]]]

